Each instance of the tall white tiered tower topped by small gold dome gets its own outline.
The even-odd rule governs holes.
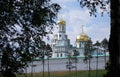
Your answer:
[[[66,22],[61,19],[58,21],[57,26],[58,32],[52,42],[52,58],[65,58],[70,48],[70,40],[66,34]]]

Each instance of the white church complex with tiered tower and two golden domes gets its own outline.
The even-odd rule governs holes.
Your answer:
[[[66,22],[61,19],[58,21],[58,33],[54,35],[51,41],[53,50],[52,58],[67,58],[68,54],[72,54],[73,50],[77,50],[79,52],[79,57],[83,57],[85,46],[90,40],[90,37],[84,33],[82,27],[81,34],[76,37],[76,46],[73,47],[66,34]]]

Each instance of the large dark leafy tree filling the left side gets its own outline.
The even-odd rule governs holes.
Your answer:
[[[4,77],[40,56],[43,37],[51,33],[60,6],[50,0],[1,0],[0,49]],[[13,76],[12,76],[13,75]]]

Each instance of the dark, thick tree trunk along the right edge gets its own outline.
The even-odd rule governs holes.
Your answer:
[[[107,77],[119,76],[120,69],[120,0],[111,0],[110,66]]]

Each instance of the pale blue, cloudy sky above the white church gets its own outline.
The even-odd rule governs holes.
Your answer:
[[[66,34],[71,44],[75,45],[76,36],[82,32],[82,25],[84,25],[84,32],[91,38],[93,43],[97,40],[101,42],[104,38],[109,39],[109,14],[104,13],[101,16],[101,12],[98,9],[97,17],[90,16],[89,10],[81,8],[78,0],[52,0],[52,2],[58,3],[61,6],[58,20],[62,18],[66,21]],[[53,32],[54,34],[56,33],[56,28]]]

